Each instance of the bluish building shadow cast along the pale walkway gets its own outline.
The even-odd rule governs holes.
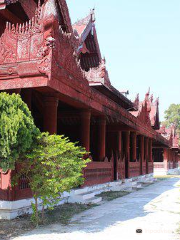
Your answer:
[[[53,224],[42,227],[27,233],[22,239],[25,240],[26,236],[31,236],[31,239],[40,239],[39,237],[43,238],[46,234],[98,233],[117,224],[123,224],[125,221],[143,218],[153,212],[161,211],[159,209],[159,207],[161,208],[161,199],[166,195],[171,195],[171,192],[178,187],[178,182],[178,178],[159,181],[140,191],[130,193],[78,214],[72,218],[67,226]],[[159,205],[158,209],[157,205]],[[36,236],[36,238],[33,238],[33,236]],[[58,237],[58,239],[61,238]]]

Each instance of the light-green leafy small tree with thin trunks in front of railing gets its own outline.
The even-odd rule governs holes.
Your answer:
[[[42,200],[42,220],[44,207],[53,207],[60,200],[60,194],[70,191],[83,183],[82,170],[89,160],[84,148],[72,143],[68,138],[43,133],[37,146],[21,159],[21,174],[26,174],[33,192],[35,204],[32,217],[39,223],[38,199]]]

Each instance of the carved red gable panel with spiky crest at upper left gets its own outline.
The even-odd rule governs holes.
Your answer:
[[[35,17],[25,24],[6,24],[0,38],[0,65],[42,58],[43,26],[42,8],[36,9]]]

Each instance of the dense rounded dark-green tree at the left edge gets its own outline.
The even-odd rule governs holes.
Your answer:
[[[20,95],[0,93],[0,168],[14,169],[16,160],[32,147],[38,134]]]

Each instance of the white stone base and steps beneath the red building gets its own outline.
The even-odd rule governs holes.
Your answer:
[[[107,191],[134,191],[142,187],[143,183],[153,183],[153,174],[142,175],[139,177],[125,179],[124,181],[108,182],[105,184],[93,185],[90,187],[73,189],[70,193],[64,192],[58,205],[64,203],[99,203],[100,197],[97,194]],[[31,203],[33,198],[18,201],[0,201],[0,219],[14,219],[18,216],[32,213]],[[39,201],[39,209],[41,202]]]

